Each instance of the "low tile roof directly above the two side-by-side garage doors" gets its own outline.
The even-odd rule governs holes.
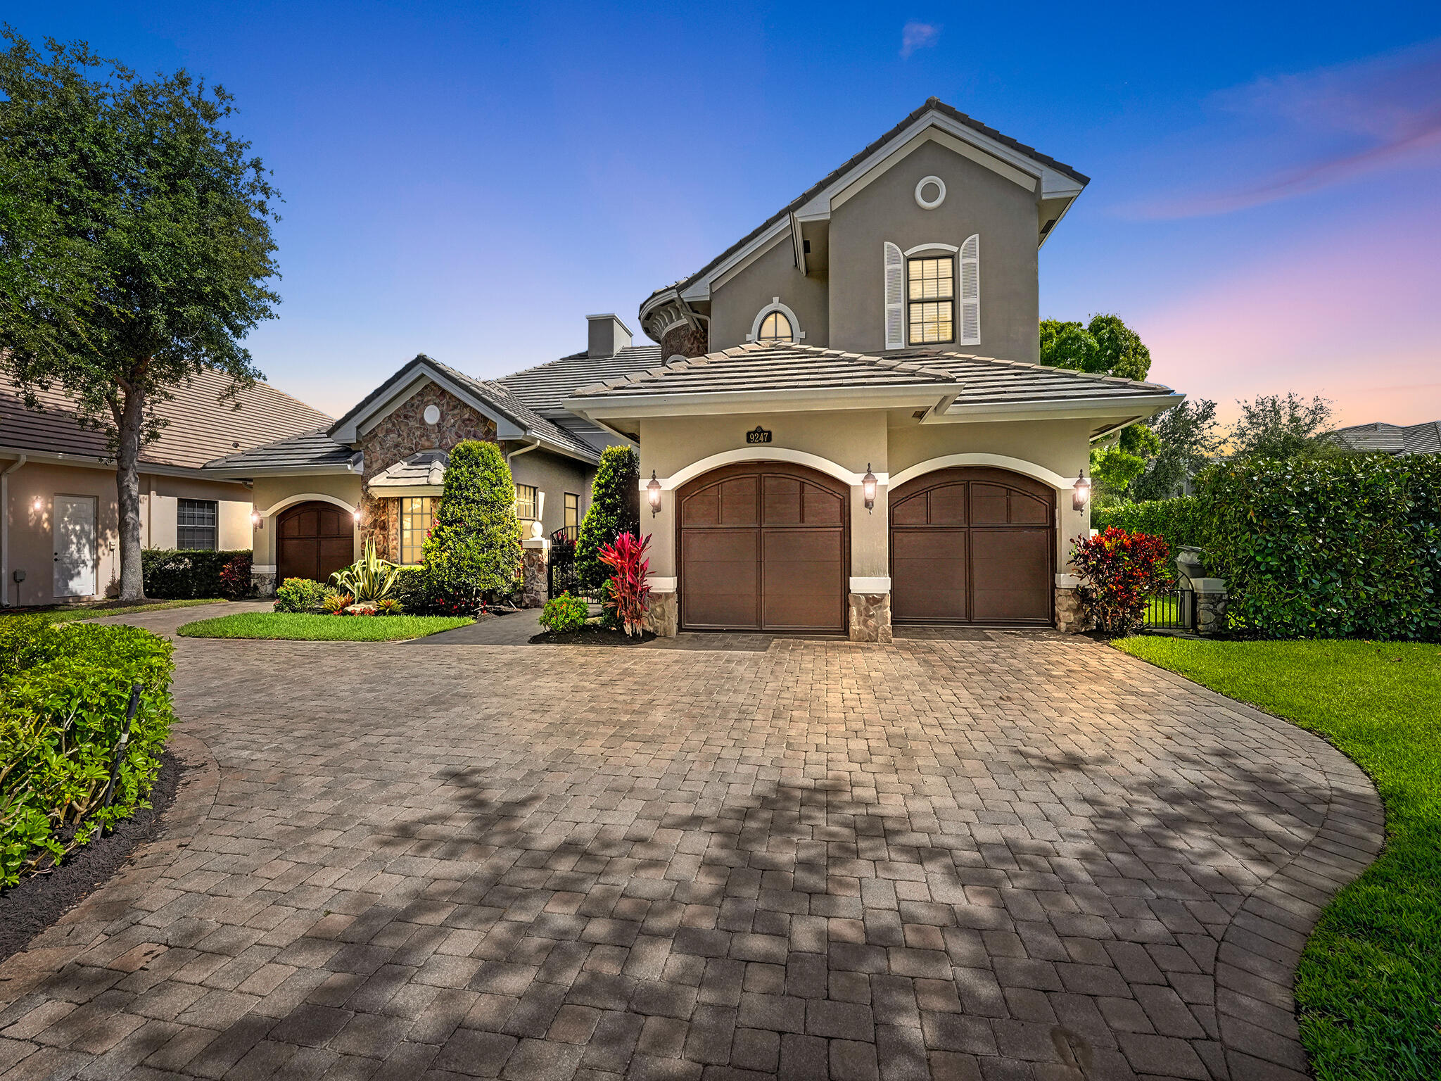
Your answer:
[[[957,405],[1094,401],[1173,393],[1169,386],[1160,383],[1141,383],[965,353],[906,350],[867,356],[790,342],[752,342],[579,388],[571,401],[885,386],[925,386],[937,388],[942,393],[945,388],[953,388]]]

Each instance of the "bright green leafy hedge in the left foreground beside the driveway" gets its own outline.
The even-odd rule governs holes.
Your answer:
[[[20,626],[16,626],[20,624]],[[43,626],[42,626],[43,624]],[[171,644],[150,631],[0,618],[0,885],[59,863],[148,807],[174,719]],[[101,809],[131,685],[140,703],[115,794]]]

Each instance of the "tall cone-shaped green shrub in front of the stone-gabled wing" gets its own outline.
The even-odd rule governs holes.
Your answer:
[[[514,587],[520,569],[516,483],[496,444],[467,440],[451,450],[421,564],[432,607],[474,608],[487,594]]]

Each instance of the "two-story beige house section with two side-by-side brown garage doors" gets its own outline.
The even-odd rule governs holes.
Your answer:
[[[566,406],[640,444],[657,633],[1074,626],[1091,441],[1182,401],[1035,363],[1085,184],[932,98],[641,304],[664,365]]]

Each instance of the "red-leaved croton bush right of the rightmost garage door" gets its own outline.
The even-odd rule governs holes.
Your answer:
[[[1074,543],[1071,562],[1082,578],[1081,602],[1091,621],[1107,634],[1138,630],[1146,604],[1170,587],[1170,546],[1115,526]]]

